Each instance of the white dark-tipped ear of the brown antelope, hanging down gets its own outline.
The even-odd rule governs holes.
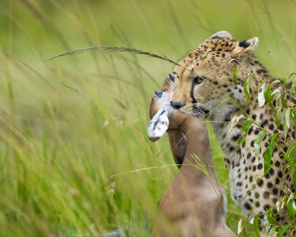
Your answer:
[[[160,109],[151,119],[148,125],[148,138],[152,142],[156,142],[168,129],[168,113],[170,108],[165,107]]]

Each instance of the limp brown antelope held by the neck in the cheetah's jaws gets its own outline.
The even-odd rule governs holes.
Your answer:
[[[225,194],[217,182],[204,118],[170,105],[177,83],[169,75],[150,104],[149,139],[156,141],[167,130],[174,159],[181,164],[158,203],[151,237],[236,236],[226,226]]]

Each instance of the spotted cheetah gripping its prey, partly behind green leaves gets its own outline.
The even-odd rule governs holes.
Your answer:
[[[281,149],[274,149],[267,174],[264,175],[264,153],[270,143],[268,136],[260,143],[258,161],[255,157],[254,143],[260,129],[268,132],[270,137],[279,132],[281,141],[286,139],[283,122],[277,128],[275,112],[266,103],[261,107],[258,104],[260,82],[265,80],[270,84],[276,79],[255,58],[253,53],[257,47],[257,37],[239,42],[226,31],[215,33],[187,54],[175,68],[179,83],[170,103],[186,114],[202,114],[211,121],[225,155],[231,197],[246,217],[253,218],[259,214],[258,228],[262,235],[267,236],[269,229],[264,225],[264,215],[272,206],[280,227],[291,223],[287,217],[287,208],[284,206],[278,210],[276,207],[286,192],[295,191],[290,171],[284,169],[287,164],[283,156],[283,151],[287,151],[284,142],[278,143]],[[237,65],[240,67],[237,83],[234,83],[233,74]],[[244,93],[244,83],[250,73],[254,76],[250,81],[249,101]],[[274,84],[275,88],[280,86],[281,81]],[[287,96],[287,100],[293,105],[296,103],[290,96]],[[244,114],[244,119],[230,129],[231,121],[241,114]],[[250,125],[244,142],[237,146],[238,140],[244,137],[242,124],[246,119],[256,123]],[[287,137],[295,140],[295,127],[289,129]],[[285,233],[285,236],[291,235]]]

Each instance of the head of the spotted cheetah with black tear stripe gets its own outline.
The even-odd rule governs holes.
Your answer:
[[[237,110],[227,98],[233,98],[239,105],[248,103],[244,80],[257,47],[257,37],[238,42],[226,31],[215,33],[179,62],[175,69],[179,83],[171,96],[171,105],[187,114],[209,115],[212,120],[217,119],[213,115]],[[242,67],[235,85],[233,71],[238,64]]]

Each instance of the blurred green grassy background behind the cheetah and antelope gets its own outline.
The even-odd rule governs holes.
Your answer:
[[[114,52],[42,63],[46,58],[111,45],[178,61],[226,30],[238,40],[257,36],[256,55],[274,76],[296,71],[295,0],[0,5],[0,236],[104,236],[118,229],[121,236],[149,236],[157,202],[178,172],[152,168],[174,163],[167,135],[156,143],[147,138],[150,99],[173,65]],[[236,217],[245,217],[231,201],[224,156],[208,125],[236,232]],[[252,236],[248,222],[240,236]]]

